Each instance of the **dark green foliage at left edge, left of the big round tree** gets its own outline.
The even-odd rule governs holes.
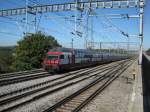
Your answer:
[[[14,47],[0,47],[0,73],[11,72],[13,49]]]

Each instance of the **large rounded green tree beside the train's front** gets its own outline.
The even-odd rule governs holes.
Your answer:
[[[13,53],[12,69],[14,71],[30,70],[40,68],[43,57],[48,49],[60,46],[52,36],[38,32],[27,34],[18,41]]]

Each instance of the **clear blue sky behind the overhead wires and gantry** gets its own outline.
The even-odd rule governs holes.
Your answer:
[[[73,0],[30,0],[29,4],[43,5],[53,3],[71,2]],[[0,10],[24,7],[25,0],[0,0]],[[144,9],[144,49],[150,48],[150,0],[146,0],[146,6]],[[137,44],[139,39],[131,37],[128,39],[123,36],[120,31],[128,33],[129,35],[139,34],[139,20],[136,18],[127,19],[112,19],[106,15],[109,14],[138,14],[138,8],[129,9],[96,9],[92,10],[96,16],[89,17],[89,25],[86,24],[86,12],[83,12],[83,18],[81,19],[81,13],[79,11],[65,11],[56,13],[42,13],[37,14],[36,25],[38,24],[38,30],[43,31],[46,35],[54,36],[60,44],[64,47],[71,47],[71,41],[75,48],[84,48],[85,37],[88,41],[91,40],[91,29],[93,32],[94,42],[134,42],[130,47],[138,48]],[[80,20],[75,21],[72,15],[77,15]],[[105,16],[104,16],[105,15]],[[35,16],[28,14],[28,32],[35,32]],[[75,24],[75,23],[78,24]],[[92,24],[91,24],[92,23]],[[79,25],[80,24],[80,25]],[[36,27],[37,28],[37,27]],[[71,32],[80,31],[83,33],[82,37],[73,35]],[[88,28],[88,36],[86,35]],[[23,32],[26,31],[25,15],[0,17],[0,46],[12,46],[16,45],[17,41],[23,38]],[[95,47],[99,44],[95,44]],[[123,43],[119,44],[120,47],[126,47]],[[113,48],[115,45],[109,45],[104,43],[103,47]]]

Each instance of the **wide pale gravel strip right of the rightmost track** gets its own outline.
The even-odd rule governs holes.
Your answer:
[[[128,112],[133,88],[133,79],[129,67],[117,80],[86,105],[81,112]],[[129,79],[127,82],[127,78]]]

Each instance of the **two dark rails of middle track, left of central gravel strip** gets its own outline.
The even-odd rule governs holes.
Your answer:
[[[120,64],[120,63],[118,63],[118,64]],[[116,64],[116,65],[114,64],[115,67],[117,67],[118,64]],[[114,65],[113,65],[113,66],[114,66]],[[31,86],[31,87],[27,87],[27,88],[23,88],[23,89],[21,89],[21,90],[14,91],[14,92],[12,92],[12,93],[7,93],[7,94],[4,94],[4,95],[1,95],[1,96],[0,96],[0,98],[1,98],[1,100],[0,100],[0,105],[4,106],[5,104],[9,104],[9,103],[11,103],[11,102],[15,102],[15,101],[18,100],[18,99],[27,97],[28,95],[32,95],[32,94],[38,93],[38,92],[40,92],[40,91],[46,90],[46,89],[48,89],[48,88],[52,88],[52,87],[54,87],[54,86],[61,85],[61,84],[65,83],[65,82],[67,82],[67,81],[74,80],[75,78],[80,78],[80,79],[78,79],[77,81],[69,82],[69,83],[67,83],[67,84],[65,84],[65,85],[63,85],[63,86],[59,86],[59,87],[54,88],[54,89],[52,89],[52,90],[50,90],[50,91],[48,90],[48,91],[46,91],[46,92],[42,92],[41,94],[33,95],[32,98],[27,99],[27,100],[25,100],[25,101],[23,101],[23,102],[21,102],[21,103],[18,103],[18,104],[11,105],[11,106],[8,106],[8,107],[6,107],[6,108],[3,108],[1,111],[7,111],[7,110],[10,110],[10,109],[16,108],[16,107],[18,107],[18,106],[20,106],[20,105],[24,105],[24,104],[26,104],[26,103],[28,103],[28,102],[31,102],[31,101],[34,101],[34,100],[39,99],[39,98],[41,98],[41,97],[44,97],[44,96],[46,96],[46,95],[52,94],[52,93],[54,93],[54,92],[57,92],[57,91],[59,91],[59,90],[61,90],[61,89],[66,88],[66,87],[75,85],[75,84],[77,84],[77,83],[79,83],[79,82],[81,82],[81,81],[84,81],[84,80],[86,80],[86,79],[89,79],[89,78],[91,78],[91,77],[97,76],[97,74],[101,74],[101,73],[104,72],[104,71],[109,70],[109,72],[110,72],[110,71],[113,70],[111,64],[110,64],[110,66],[108,66],[108,67],[106,67],[106,66],[101,66],[99,69],[97,69],[97,68],[98,68],[98,67],[95,67],[95,68],[93,68],[93,69],[89,69],[89,70],[87,70],[86,72],[83,71],[83,70],[81,70],[81,71],[82,71],[82,72],[81,72],[81,71],[79,70],[79,71],[78,71],[78,72],[79,72],[78,75],[76,74],[76,73],[78,73],[78,72],[73,72],[73,73],[75,73],[75,76],[69,77],[68,79],[65,79],[65,80],[63,80],[63,81],[61,81],[61,82],[58,81],[58,82],[53,83],[53,84],[51,84],[51,85],[46,85],[46,86],[44,86],[44,87],[36,88],[36,87],[38,87],[38,86],[43,86],[44,84],[48,84],[48,82],[43,82],[43,83],[40,83],[40,84],[37,84],[37,85],[33,85],[33,86]],[[102,71],[96,72],[97,70],[100,70],[100,69],[101,69]],[[92,72],[95,72],[95,73],[93,73],[92,75],[89,75],[89,74],[92,73]],[[73,73],[72,73],[72,74],[73,74]],[[70,76],[70,75],[68,74],[68,76]],[[84,77],[83,77],[83,76],[84,76]],[[64,76],[64,77],[67,77],[67,76]],[[83,77],[83,78],[82,78],[82,77]],[[58,79],[61,79],[61,78],[58,78]],[[53,80],[51,80],[51,81],[49,81],[49,83],[50,83],[50,82],[53,82],[53,81],[56,81],[56,80],[57,80],[57,78],[56,78],[56,79],[53,79]],[[31,88],[32,88],[32,89],[33,89],[33,88],[36,88],[36,89],[30,90]],[[29,91],[29,90],[30,90],[30,91]],[[19,94],[17,94],[17,93],[19,93]],[[13,94],[14,94],[14,95],[13,95]],[[17,94],[17,95],[16,95],[16,94]],[[12,96],[6,98],[6,97],[9,96],[9,95],[12,95]]]

